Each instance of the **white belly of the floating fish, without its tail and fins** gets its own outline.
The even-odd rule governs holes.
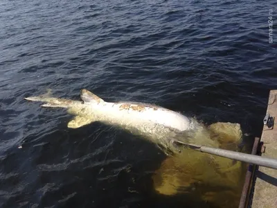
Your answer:
[[[116,125],[166,149],[170,148],[173,137],[191,128],[186,116],[162,107],[148,107],[148,104],[105,102],[89,104],[85,109],[81,113],[84,117]]]

